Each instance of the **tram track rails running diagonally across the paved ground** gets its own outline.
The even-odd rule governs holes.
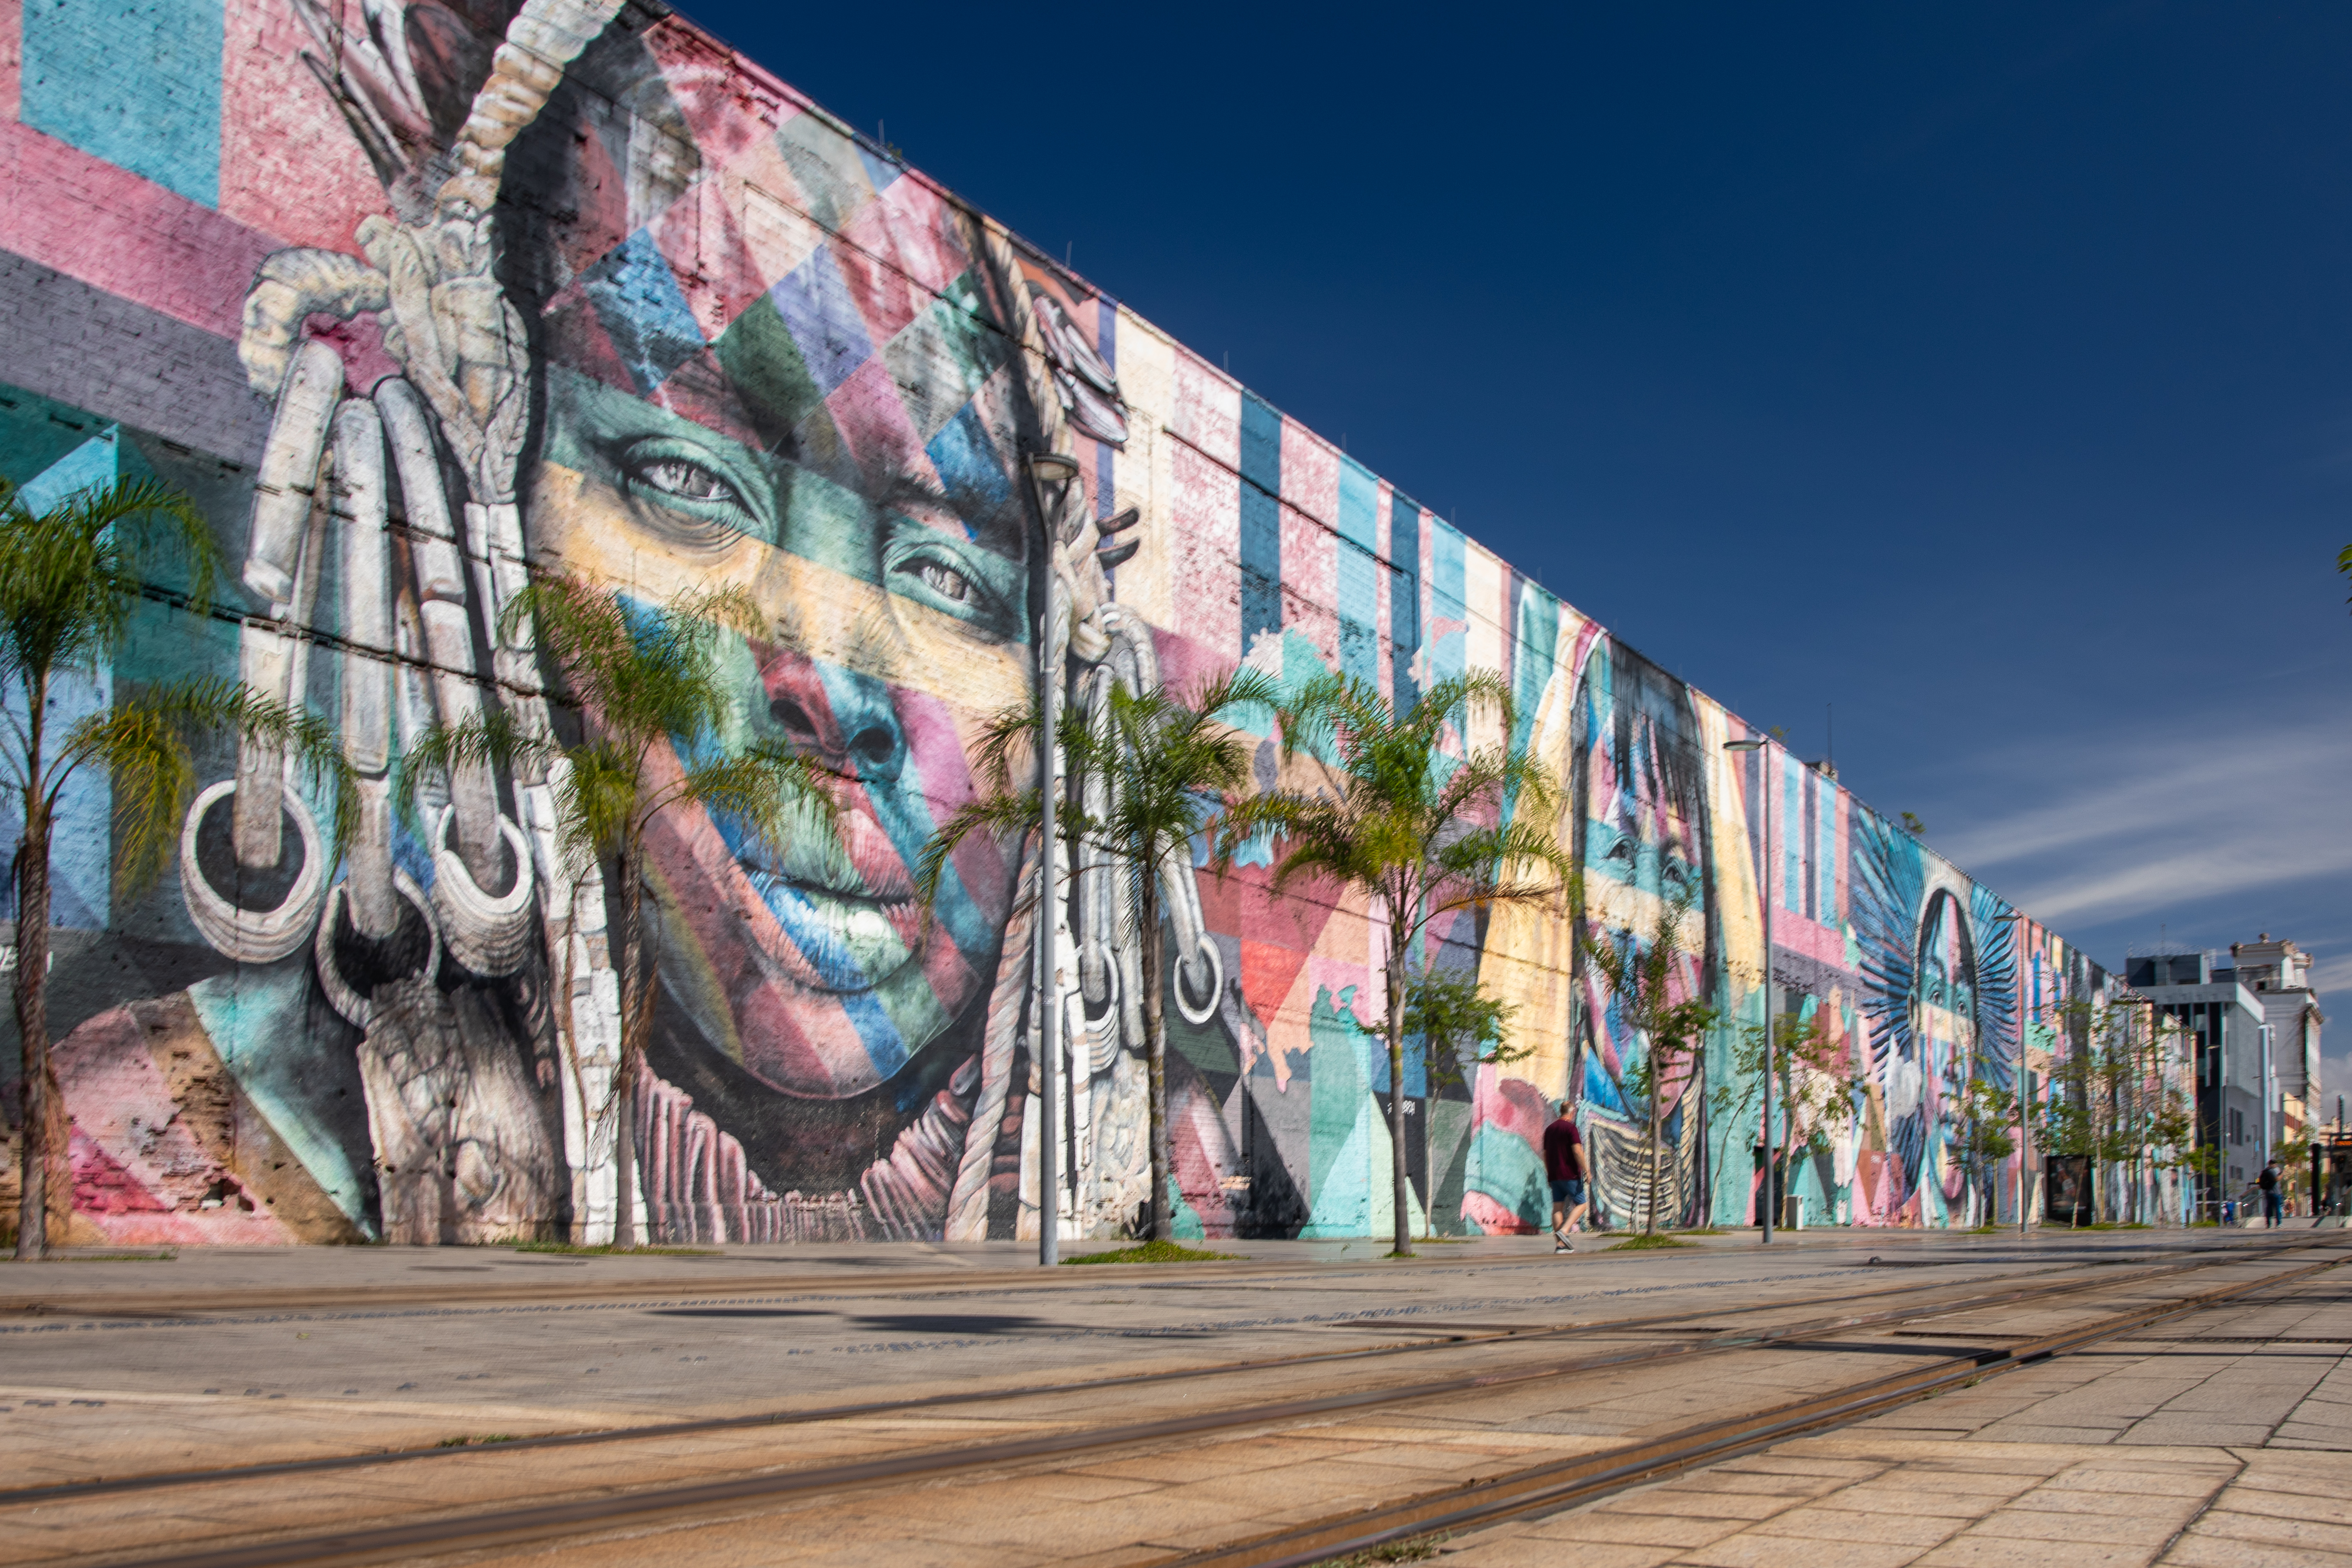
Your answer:
[[[1999,1279],[2016,1279],[2013,1274],[1997,1276],[1994,1281],[1945,1279],[1945,1281],[1891,1286],[1863,1295],[1839,1293],[1835,1298],[1811,1295],[1783,1302],[1757,1302],[1752,1307],[1738,1307],[1731,1312],[1722,1307],[1710,1307],[1705,1312],[1691,1309],[1672,1314],[1649,1314],[1637,1319],[1541,1326],[1526,1331],[1446,1335],[1446,1338],[1414,1340],[1404,1345],[1310,1352],[1305,1356],[1258,1359],[1258,1361],[1221,1363],[1209,1368],[1169,1368],[1157,1373],[1134,1373],[1124,1378],[1105,1378],[1075,1385],[1058,1382],[1058,1385],[1028,1385],[1016,1389],[971,1389],[960,1394],[906,1399],[906,1401],[866,1401],[854,1406],[828,1406],[814,1410],[779,1410],[764,1415],[713,1418],[699,1422],[661,1422],[647,1427],[619,1427],[607,1432],[550,1434],[541,1439],[501,1443],[496,1450],[482,1450],[482,1448],[397,1450],[376,1455],[346,1455],[332,1460],[296,1460],[282,1465],[223,1467],[223,1469],[172,1472],[153,1476],[122,1476],[108,1481],[66,1483],[47,1488],[19,1488],[0,1493],[0,1519],[5,1519],[7,1509],[21,1505],[96,1497],[115,1490],[153,1493],[167,1488],[223,1488],[263,1476],[285,1476],[296,1472],[322,1472],[322,1469],[383,1467],[407,1460],[442,1458],[452,1453],[470,1453],[480,1458],[485,1453],[506,1455],[527,1448],[626,1443],[656,1436],[673,1439],[701,1432],[727,1432],[727,1429],[743,1429],[760,1425],[783,1427],[783,1425],[823,1422],[823,1420],[849,1420],[858,1415],[887,1415],[887,1413],[934,1410],[934,1408],[971,1406],[990,1401],[1002,1403],[1016,1399],[1068,1396],[1108,1387],[1136,1387],[1155,1382],[1176,1385],[1185,1380],[1287,1371],[1315,1363],[1418,1356],[1430,1352],[1465,1349],[1479,1345],[1503,1345],[1503,1342],[1531,1345],[1543,1340],[1557,1340],[1564,1335],[1639,1333],[1644,1328],[1668,1328],[1677,1321],[1710,1319],[1710,1316],[1712,1319],[1724,1319],[1724,1316],[1755,1319],[1769,1314],[1785,1316],[1788,1312],[1818,1307],[1825,1302],[1858,1302],[1858,1300],[1875,1302],[1875,1300],[1903,1298],[1900,1305],[1889,1305],[1877,1312],[1839,1312],[1818,1319],[1802,1319],[1795,1324],[1773,1321],[1762,1326],[1726,1328],[1719,1333],[1705,1333],[1705,1338],[1693,1335],[1689,1340],[1677,1340],[1677,1342],[1637,1345],[1588,1356],[1571,1356],[1566,1361],[1545,1361],[1536,1366],[1463,1371],[1456,1375],[1425,1378],[1416,1382],[1390,1382],[1381,1387],[1357,1387],[1357,1389],[1343,1389],[1301,1399],[1256,1401],[1256,1403],[1223,1406],[1209,1410],[1192,1410],[1171,1418],[1091,1425],[1091,1427],[1075,1427],[1063,1432],[1047,1432],[1037,1436],[1002,1439],[988,1443],[917,1448],[854,1462],[811,1465],[797,1469],[762,1467],[753,1474],[736,1474],[720,1481],[630,1488],[630,1490],[555,1500],[529,1507],[492,1505],[492,1507],[475,1507],[470,1512],[445,1514],[437,1519],[421,1519],[407,1523],[365,1523],[329,1533],[310,1530],[280,1540],[200,1547],[193,1552],[172,1552],[162,1556],[106,1554],[103,1561],[122,1563],[122,1568],[275,1568],[280,1563],[346,1563],[346,1561],[358,1563],[358,1561],[440,1556],[449,1552],[482,1552],[492,1547],[524,1544],[534,1540],[583,1535],[623,1523],[644,1526],[659,1519],[694,1516],[699,1512],[710,1512],[727,1505],[807,1502],[807,1500],[821,1500],[828,1493],[849,1493],[884,1483],[931,1481],[960,1472],[1021,1467],[1049,1458],[1080,1458],[1089,1453],[1112,1455],[1117,1450],[1164,1443],[1169,1439],[1183,1439],[1183,1436],[1235,1432],[1247,1427],[1282,1427],[1291,1422],[1345,1418],[1385,1406],[1442,1401],[1449,1396],[1508,1389],[1543,1380],[1573,1380],[1578,1375],[1616,1371],[1635,1363],[1792,1347],[1792,1345],[1804,1345],[1806,1340],[1823,1340],[1835,1333],[1851,1333],[1856,1328],[1863,1331],[1884,1328],[1922,1316],[1952,1316],[1962,1312],[1978,1312],[1987,1307],[2004,1307],[2034,1300],[2056,1300],[2065,1295],[2126,1291],[2136,1284],[2169,1279],[2194,1269],[2267,1262],[2277,1260],[2279,1255],[2310,1246],[2326,1246],[2331,1241],[2336,1241],[2336,1237],[2312,1237],[2265,1248],[2232,1246],[2220,1253],[2199,1251],[2183,1260],[2157,1267],[2131,1269],[2131,1272],[2100,1272],[2093,1276],[2079,1276],[2082,1265],[2060,1265],[2063,1269],[2067,1269],[2070,1274],[2067,1279],[2042,1279],[2032,1284],[2016,1284],[2004,1291],[1983,1291],[1980,1286],[1997,1284]],[[2157,1305],[2143,1305],[2131,1312],[2100,1319],[2098,1324],[2070,1328],[2056,1335],[1969,1349],[1964,1354],[1945,1356],[1922,1368],[1910,1368],[1891,1378],[1877,1378],[1849,1385],[1813,1399],[1778,1406],[1773,1410],[1750,1413],[1726,1422],[1710,1422],[1705,1427],[1693,1427],[1672,1436],[1632,1443],[1625,1448],[1613,1448],[1599,1455],[1583,1455],[1576,1460],[1538,1465],[1522,1472],[1512,1472],[1508,1476],[1484,1479],[1470,1486],[1442,1488],[1425,1497],[1399,1502],[1392,1509],[1378,1509],[1378,1512],[1357,1509],[1341,1519],[1322,1521],[1319,1526],[1298,1526],[1263,1537],[1258,1542],[1244,1542],[1242,1547],[1223,1547],[1209,1554],[1171,1556],[1167,1561],[1169,1568],[1176,1568],[1178,1563],[1183,1568],[1242,1568],[1244,1563],[1249,1568],[1289,1568],[1298,1563],[1324,1561],[1329,1556],[1348,1552],[1362,1552],[1411,1535],[1425,1535],[1432,1530],[1458,1530],[1465,1528],[1468,1523],[1489,1523],[1526,1512],[1552,1512],[1559,1507],[1573,1507],[1576,1502],[1606,1495],[1609,1490],[1618,1490],[1623,1486],[1632,1486],[1646,1479],[1672,1474],[1675,1469],[1689,1469],[1693,1465],[1705,1465],[1719,1458],[1729,1458],[1731,1453],[1745,1453],[1750,1448],[1780,1441],[1785,1436],[1792,1436],[1795,1432],[1809,1432],[1828,1425],[1860,1420],[1863,1415],[1872,1415],[1884,1408],[1893,1408],[1896,1403],[1933,1394],[1943,1387],[1950,1387],[1969,1378],[1983,1378],[1997,1371],[2009,1371],[2013,1366],[2042,1361],[2053,1354],[2065,1354],[2067,1349],[2077,1349],[2079,1345],[2131,1333],[2136,1328],[2145,1328],[2152,1321],[2176,1316],[2183,1312],[2197,1312],[2220,1300],[2230,1300],[2234,1295],[2263,1288],[2277,1288],[2293,1279],[2303,1279],[2312,1272],[2336,1267],[2336,1262],[2340,1260],[2312,1262],[2284,1276],[2267,1274],[2253,1281],[2234,1281],[2216,1291],[2197,1293],[2190,1298],[2171,1298]],[[1971,1335],[1966,1331],[1955,1328],[1950,1338],[1971,1338]],[[1926,1354],[1931,1347],[1922,1345],[1919,1349],[1922,1354]]]

